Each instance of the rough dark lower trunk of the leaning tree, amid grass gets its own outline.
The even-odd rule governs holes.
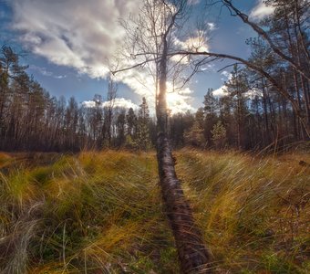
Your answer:
[[[164,133],[157,139],[161,195],[181,262],[183,273],[211,273],[211,255],[205,248],[200,229],[181,189],[174,168],[171,144]]]

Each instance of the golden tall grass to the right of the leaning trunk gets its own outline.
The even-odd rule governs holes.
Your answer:
[[[308,273],[309,155],[178,153],[178,174],[212,249],[233,273]]]

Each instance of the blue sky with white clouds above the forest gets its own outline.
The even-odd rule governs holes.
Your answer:
[[[95,94],[106,97],[109,62],[119,47],[124,30],[120,19],[139,11],[141,0],[0,0],[0,45],[26,52],[22,62],[52,95],[74,96],[90,101]],[[204,0],[191,1],[194,16],[203,10]],[[253,20],[269,14],[263,0],[238,0],[236,5]],[[196,14],[195,14],[196,13]],[[245,39],[253,37],[248,26],[220,6],[204,12],[209,27],[207,45],[213,52],[246,58]],[[181,41],[183,42],[183,41]],[[217,72],[227,62],[202,68],[188,87],[169,94],[172,111],[194,111],[202,106],[208,88],[220,94],[229,71]],[[140,104],[145,96],[152,105],[153,83],[147,71],[130,71],[118,76],[118,103]],[[168,83],[171,87],[171,83]],[[91,102],[90,102],[91,105]]]

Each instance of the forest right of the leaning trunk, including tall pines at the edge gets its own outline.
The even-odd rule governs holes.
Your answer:
[[[199,146],[245,150],[309,140],[309,1],[264,1],[274,7],[274,13],[258,24],[232,1],[219,2],[258,37],[246,41],[252,52],[245,61],[225,54],[210,55],[239,63],[233,64],[224,96],[216,98],[208,90],[203,108],[186,133],[187,140]]]

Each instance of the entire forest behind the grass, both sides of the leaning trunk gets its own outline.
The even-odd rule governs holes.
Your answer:
[[[260,26],[276,47],[294,59],[298,69],[274,54],[262,37],[246,41],[252,49],[247,60],[272,76],[285,92],[276,90],[261,73],[234,64],[222,96],[214,96],[206,87],[202,108],[196,113],[169,117],[175,147],[190,144],[253,150],[309,139],[310,85],[307,74],[301,73],[310,71],[309,3],[277,3],[274,14],[263,19]],[[147,150],[154,146],[156,122],[150,117],[148,102],[143,99],[137,111],[125,110],[114,106],[116,96],[117,86],[111,80],[107,94],[96,95],[92,108],[74,98],[51,96],[27,74],[12,47],[5,45],[0,52],[0,149]]]

